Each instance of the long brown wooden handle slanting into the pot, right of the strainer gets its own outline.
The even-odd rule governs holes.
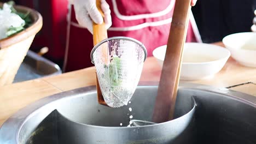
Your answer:
[[[181,71],[183,45],[187,35],[191,0],[176,1],[168,37],[165,60],[154,108],[153,121],[166,122],[173,118]]]

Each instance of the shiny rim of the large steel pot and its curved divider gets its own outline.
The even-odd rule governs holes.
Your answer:
[[[143,82],[143,83],[139,84],[139,87],[148,87],[148,86],[156,87],[156,86],[158,86],[158,82]],[[198,85],[195,83],[181,82],[179,89],[183,89],[183,88],[196,89],[199,91],[206,91],[206,92],[212,92],[212,93],[216,93],[216,94],[222,94],[224,97],[234,98],[238,101],[241,101],[242,103],[251,105],[256,108],[256,97],[253,97],[252,95],[249,95],[249,94],[232,91],[227,88],[217,88],[217,87],[212,87],[212,86]],[[74,92],[79,92],[80,94],[95,93],[95,89],[96,89],[95,86],[78,88],[78,89],[74,89],[71,91],[54,94],[54,95],[51,95],[50,97],[40,99],[30,105],[27,105],[26,107],[24,107],[23,109],[16,112],[9,119],[7,119],[7,121],[5,121],[3,123],[3,125],[0,128],[0,135],[2,133],[2,135],[4,135],[4,136],[6,135],[8,137],[11,137],[11,141],[18,142],[18,137],[19,137],[20,131],[17,131],[17,130],[20,130],[24,126],[26,121],[28,119],[30,119],[33,115],[36,115],[36,113],[39,112],[40,109],[43,109],[44,106],[53,104],[53,102],[56,100],[61,100],[61,99],[67,98],[69,95],[74,94]],[[80,97],[80,95],[75,95],[72,97]],[[191,110],[189,112],[191,112]],[[188,113],[183,116],[186,116],[186,115],[188,115]],[[179,117],[179,118],[182,118],[182,117]],[[177,118],[177,119],[179,119],[179,118]],[[177,119],[173,119],[172,121],[177,121]],[[170,121],[168,121],[168,122],[170,122]],[[168,123],[168,122],[165,122],[165,123]],[[154,124],[154,126],[165,124],[165,123]],[[101,126],[96,126],[96,125],[88,125],[88,126],[89,127],[97,127],[97,128],[101,127]],[[146,126],[142,126],[142,127],[150,127],[150,125],[146,125]],[[110,128],[110,129],[118,128],[118,129],[120,129],[121,127],[102,127],[102,128]],[[127,129],[127,127],[123,127],[123,129]],[[4,133],[4,131],[5,131],[5,133]],[[6,131],[8,131],[8,134],[6,134]],[[1,139],[0,139],[0,142],[1,142]]]

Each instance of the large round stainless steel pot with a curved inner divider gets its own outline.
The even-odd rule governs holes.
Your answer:
[[[130,115],[152,120],[157,88],[139,86],[120,109],[98,105],[95,87],[44,98],[2,125],[0,143],[256,143],[256,97],[189,83],[179,87],[176,119],[120,127]]]

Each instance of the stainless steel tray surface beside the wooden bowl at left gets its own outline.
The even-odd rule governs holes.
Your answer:
[[[28,50],[27,55],[14,78],[14,83],[45,76],[59,75],[61,73],[59,65]]]

